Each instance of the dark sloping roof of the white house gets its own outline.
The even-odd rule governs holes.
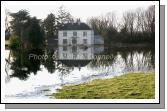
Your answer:
[[[60,30],[91,30],[85,23],[67,23]]]

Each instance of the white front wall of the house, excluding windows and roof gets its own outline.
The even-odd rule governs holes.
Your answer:
[[[63,36],[63,32],[67,32],[67,36]],[[67,45],[72,45],[73,32],[77,32],[76,40],[77,45],[83,45],[84,40],[87,40],[87,45],[94,44],[94,31],[93,30],[63,30],[58,32],[58,44],[63,45],[63,39],[67,39]],[[87,36],[83,36],[83,32],[87,33]],[[85,45],[85,44],[84,44]]]

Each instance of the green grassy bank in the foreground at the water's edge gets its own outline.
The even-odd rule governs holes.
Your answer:
[[[154,99],[154,77],[154,73],[129,73],[111,79],[64,86],[51,96],[59,99]]]

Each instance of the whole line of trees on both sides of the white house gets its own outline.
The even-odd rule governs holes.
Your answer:
[[[57,37],[58,30],[64,24],[78,20],[80,18],[74,18],[62,6],[56,14],[50,13],[44,20],[31,17],[27,10],[16,13],[6,11],[5,39],[10,39],[10,47],[16,49],[20,46],[41,47],[48,38]],[[105,45],[155,43],[155,6],[124,12],[120,22],[114,13],[107,13],[105,16],[88,18],[87,24],[104,38]]]

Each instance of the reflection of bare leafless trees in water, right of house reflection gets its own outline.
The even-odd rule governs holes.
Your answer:
[[[105,75],[112,72],[152,71],[155,67],[154,53],[152,47],[105,48],[103,53],[95,56],[95,59],[90,63],[90,67]]]

